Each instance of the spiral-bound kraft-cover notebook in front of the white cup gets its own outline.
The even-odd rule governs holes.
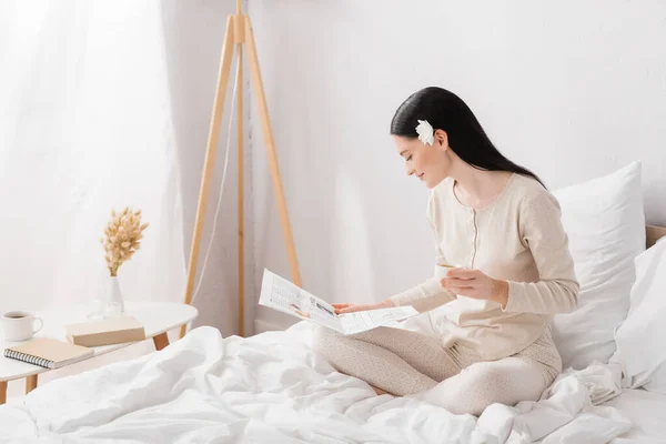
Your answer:
[[[4,356],[46,369],[59,369],[92,356],[94,351],[51,337],[36,337],[4,349]]]

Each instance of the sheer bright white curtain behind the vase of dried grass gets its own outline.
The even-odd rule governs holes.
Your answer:
[[[112,209],[141,209],[127,300],[182,301],[182,205],[158,1],[0,3],[0,310],[87,303]]]

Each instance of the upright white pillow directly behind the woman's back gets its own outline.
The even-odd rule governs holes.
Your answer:
[[[634,259],[645,251],[640,162],[553,194],[581,284],[578,309],[554,316],[553,339],[565,369],[608,363],[629,310]]]

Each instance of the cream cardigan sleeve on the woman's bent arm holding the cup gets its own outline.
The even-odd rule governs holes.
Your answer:
[[[506,312],[556,314],[576,310],[578,282],[559,203],[547,191],[521,205],[518,230],[536,264],[537,282],[508,281]]]

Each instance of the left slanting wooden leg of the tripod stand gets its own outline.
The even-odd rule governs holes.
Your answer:
[[[226,32],[224,33],[224,44],[222,47],[222,57],[220,60],[220,71],[218,74],[218,89],[215,91],[215,102],[213,105],[213,117],[209,130],[208,148],[203,167],[203,176],[201,179],[201,189],[199,191],[199,203],[196,205],[196,219],[194,221],[194,235],[192,238],[192,248],[190,250],[190,263],[188,266],[188,285],[185,287],[185,304],[192,302],[192,291],[194,289],[194,276],[196,275],[196,260],[199,259],[199,246],[201,244],[201,234],[205,208],[208,204],[208,194],[210,180],[215,164],[215,151],[218,139],[220,138],[220,122],[224,108],[224,95],[226,94],[226,83],[229,81],[229,71],[231,70],[231,56],[233,53],[233,20],[230,16],[226,20]],[[180,337],[186,332],[186,325],[183,324],[180,330]]]

